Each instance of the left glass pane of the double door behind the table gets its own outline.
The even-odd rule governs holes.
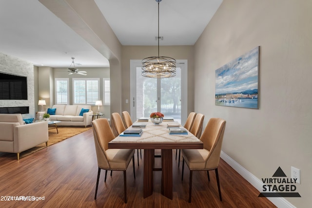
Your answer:
[[[137,118],[157,112],[157,79],[142,76],[141,70],[137,67]]]

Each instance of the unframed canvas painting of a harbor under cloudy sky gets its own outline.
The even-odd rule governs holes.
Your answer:
[[[215,70],[215,105],[259,109],[260,46]]]

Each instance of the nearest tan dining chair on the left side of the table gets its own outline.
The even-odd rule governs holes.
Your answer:
[[[101,169],[105,170],[105,179],[107,170],[119,170],[123,171],[124,180],[124,201],[127,203],[127,180],[126,180],[126,170],[132,158],[133,164],[133,174],[136,178],[135,173],[135,156],[134,150],[128,149],[108,149],[108,143],[115,138],[111,127],[106,118],[98,118],[92,121],[94,142],[96,146],[97,159],[98,159],[98,178],[96,193],[94,199],[97,199],[98,193],[98,181]]]

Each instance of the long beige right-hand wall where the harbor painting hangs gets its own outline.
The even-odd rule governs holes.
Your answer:
[[[222,150],[258,179],[301,170],[312,204],[312,1],[224,0],[195,44],[195,111],[227,120]],[[215,70],[260,46],[259,109],[215,106]]]

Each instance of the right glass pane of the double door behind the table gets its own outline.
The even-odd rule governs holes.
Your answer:
[[[160,112],[181,123],[181,68],[176,68],[176,76],[161,78]]]

